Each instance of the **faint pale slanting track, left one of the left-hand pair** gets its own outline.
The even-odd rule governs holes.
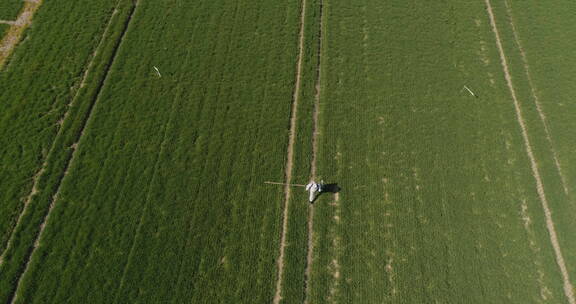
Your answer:
[[[118,6],[118,3],[120,3],[120,1],[118,1],[116,3],[116,6]],[[96,57],[96,52],[98,52],[98,50],[100,49],[100,46],[102,45],[102,41],[104,40],[104,37],[106,37],[106,34],[108,33],[108,31],[110,29],[110,24],[112,22],[112,18],[114,17],[114,14],[116,14],[116,10],[114,10],[114,12],[112,13],[112,16],[110,16],[110,20],[108,21],[108,24],[106,25],[106,29],[104,30],[104,33],[102,33],[102,36],[100,37],[100,41],[98,42],[98,45],[96,46],[96,49],[94,50],[94,54],[92,55],[92,58],[90,59],[90,62],[88,63],[88,66],[84,70],[84,75],[82,76],[82,81],[80,82],[80,87],[84,86],[86,78],[88,77],[88,73],[93,66],[94,58]],[[66,112],[64,113],[63,117],[59,119],[60,122],[64,122],[64,121],[66,121],[66,119],[68,119],[68,115],[70,113],[70,108],[76,103],[76,100],[78,98],[78,92],[79,91],[76,91],[76,94],[71,99],[71,101],[68,103]],[[34,195],[38,192],[38,180],[44,174],[44,170],[46,169],[46,166],[48,165],[48,163],[47,163],[48,162],[48,155],[51,155],[54,153],[56,138],[58,138],[58,136],[60,136],[60,134],[62,133],[62,124],[63,123],[60,123],[60,129],[58,129],[58,132],[56,133],[56,136],[54,137],[54,140],[52,141],[52,144],[50,146],[50,150],[48,150],[48,154],[46,154],[46,157],[44,158],[44,161],[42,163],[42,166],[40,167],[40,170],[38,170],[38,172],[36,172],[36,174],[34,174],[34,177],[32,178],[32,181],[33,181],[32,182],[32,190],[30,191],[30,193],[28,194],[28,196],[24,200],[24,207],[22,208],[22,211],[18,215],[18,219],[16,220],[16,225],[14,225],[14,227],[12,228],[12,231],[10,232],[10,238],[8,239],[8,242],[6,243],[6,248],[4,248],[4,251],[0,255],[0,265],[2,265],[2,263],[4,262],[4,256],[6,255],[6,251],[8,251],[8,248],[10,248],[10,246],[12,245],[12,243],[14,241],[13,240],[14,231],[20,225],[22,218],[23,218],[23,215],[25,214],[25,211],[27,210],[30,201],[32,200]]]

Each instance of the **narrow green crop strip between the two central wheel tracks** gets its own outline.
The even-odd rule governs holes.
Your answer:
[[[292,162],[292,182],[297,184],[306,184],[311,179],[313,115],[320,46],[320,1],[306,0],[305,3],[300,96]],[[293,187],[288,204],[288,229],[284,249],[284,277],[281,286],[283,303],[298,303],[304,299],[309,207],[308,192],[303,188]]]

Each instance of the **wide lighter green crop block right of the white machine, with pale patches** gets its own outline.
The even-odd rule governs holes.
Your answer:
[[[311,302],[564,300],[484,3],[324,7]]]

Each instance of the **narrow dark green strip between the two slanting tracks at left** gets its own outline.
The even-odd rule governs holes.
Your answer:
[[[26,270],[34,263],[34,251],[41,246],[43,227],[49,220],[50,211],[58,198],[62,179],[74,160],[75,144],[89,123],[90,114],[97,103],[106,75],[113,64],[122,38],[135,9],[132,1],[121,0],[109,23],[109,31],[102,38],[100,49],[95,53],[92,71],[88,72],[86,86],[78,91],[77,101],[70,108],[69,119],[62,125],[62,131],[54,142],[46,160],[45,174],[38,181],[39,193],[32,198],[31,208],[24,210],[22,223],[14,231],[13,246],[6,249],[4,264],[0,266],[3,280],[0,282],[0,299],[17,303],[19,286],[25,283]],[[24,280],[24,281],[23,281]]]

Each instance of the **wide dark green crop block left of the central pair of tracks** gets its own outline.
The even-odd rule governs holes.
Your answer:
[[[272,299],[298,17],[138,2],[19,301]]]

